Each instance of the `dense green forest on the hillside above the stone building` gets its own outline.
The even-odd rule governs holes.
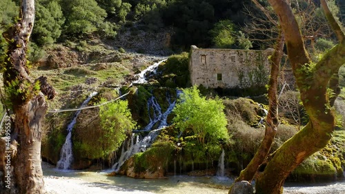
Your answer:
[[[307,9],[306,2],[296,2],[293,2],[295,9],[301,12]],[[19,1],[1,0],[0,3],[3,8],[0,11],[0,30],[3,31],[15,21]],[[262,3],[268,5],[266,1]],[[315,1],[315,5],[318,4]],[[339,19],[343,19],[344,1],[335,1],[335,5],[333,8],[337,10],[334,11]],[[308,17],[315,19],[309,28],[317,30],[317,25],[324,22],[322,12],[306,11]],[[115,39],[125,28],[129,28],[133,35],[137,30],[154,33],[172,28],[170,48],[175,51],[188,50],[193,44],[203,48],[266,48],[275,33],[274,30],[260,29],[273,28],[273,24],[265,21],[264,13],[249,0],[39,0],[36,2],[35,26],[31,36],[31,61],[43,57],[44,47],[52,43],[81,41],[90,37]],[[324,32],[320,34],[320,38],[331,38]],[[323,46],[329,44],[323,40],[319,42]],[[3,53],[3,37],[0,43],[0,52]]]

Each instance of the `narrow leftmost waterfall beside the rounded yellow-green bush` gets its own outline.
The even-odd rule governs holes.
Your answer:
[[[97,95],[97,92],[91,93],[88,96],[88,98],[85,101],[83,101],[80,107],[86,106],[86,104],[88,104],[90,99],[94,97],[95,95]],[[66,136],[65,144],[63,144],[61,148],[60,160],[57,162],[57,168],[67,170],[68,168],[70,168],[70,164],[72,164],[72,161],[73,161],[72,139],[71,139],[72,129],[73,129],[73,126],[75,126],[75,123],[77,122],[77,117],[80,113],[81,113],[81,110],[78,110],[73,116],[72,122],[68,124],[68,127],[67,127],[68,134]]]

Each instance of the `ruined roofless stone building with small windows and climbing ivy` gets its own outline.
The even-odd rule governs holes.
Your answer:
[[[206,88],[264,86],[269,76],[270,50],[197,48],[191,46],[190,81]]]

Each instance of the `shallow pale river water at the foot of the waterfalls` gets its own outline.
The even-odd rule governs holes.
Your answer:
[[[43,174],[55,177],[74,177],[103,186],[115,185],[128,191],[136,190],[162,194],[226,194],[233,182],[231,179],[226,180],[212,176],[190,177],[188,175],[168,176],[166,179],[158,180],[133,179],[125,176],[108,177],[106,171],[63,171],[48,165],[43,165]],[[288,183],[284,187],[284,193],[345,194],[345,181],[324,184]]]

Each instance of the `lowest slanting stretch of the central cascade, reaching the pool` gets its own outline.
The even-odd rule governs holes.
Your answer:
[[[124,164],[126,160],[129,159],[132,155],[135,155],[136,153],[139,153],[139,152],[146,151],[146,148],[150,147],[150,145],[159,135],[160,130],[161,128],[156,129],[156,130],[151,130],[150,133],[148,133],[148,135],[144,137],[144,139],[139,141],[137,144],[132,144],[131,142],[130,148],[128,148],[127,151],[121,153],[119,161],[112,166],[112,169],[114,169],[115,172],[119,171],[122,164]]]

